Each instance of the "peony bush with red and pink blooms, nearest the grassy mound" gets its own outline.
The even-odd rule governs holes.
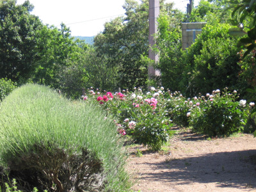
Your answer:
[[[163,95],[163,88],[152,88],[147,94],[138,88],[132,93],[128,90],[115,94],[105,92],[97,95],[97,102],[115,118],[119,134],[127,134],[134,141],[159,150],[173,134]]]

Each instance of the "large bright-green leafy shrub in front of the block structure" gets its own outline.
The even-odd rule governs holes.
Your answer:
[[[226,86],[240,88],[238,75],[241,67],[237,65],[236,38],[228,35],[229,28],[227,24],[206,25],[196,42],[188,48],[181,83],[186,96],[205,94]]]

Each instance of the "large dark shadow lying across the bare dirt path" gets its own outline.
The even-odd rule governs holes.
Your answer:
[[[142,174],[140,179],[175,184],[216,182],[218,188],[256,187],[256,150],[217,152],[183,159],[168,156],[161,163],[145,164],[161,172]]]

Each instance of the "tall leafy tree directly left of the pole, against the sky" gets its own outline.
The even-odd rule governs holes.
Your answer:
[[[161,12],[172,12],[172,4],[160,2]],[[148,0],[139,4],[126,0],[126,17],[118,17],[105,24],[103,33],[95,36],[95,51],[107,68],[112,68],[116,86],[133,88],[147,87],[148,83]],[[171,15],[171,14],[170,14]],[[170,18],[170,17],[169,17]],[[100,63],[101,65],[102,63]]]

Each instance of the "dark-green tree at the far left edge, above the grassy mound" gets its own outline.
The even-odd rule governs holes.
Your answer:
[[[29,1],[15,5],[14,0],[0,2],[0,78],[26,81],[35,70],[38,31],[42,23],[30,15]]]

